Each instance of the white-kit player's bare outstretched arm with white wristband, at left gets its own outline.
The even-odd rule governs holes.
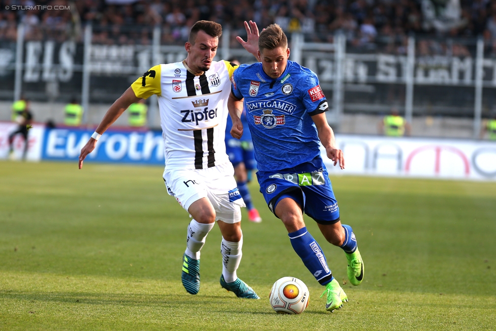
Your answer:
[[[131,87],[129,87],[126,92],[124,92],[119,99],[115,100],[115,102],[110,106],[109,110],[105,116],[103,116],[102,122],[98,125],[97,130],[95,130],[99,134],[103,134],[107,129],[115,122],[117,118],[126,110],[128,107],[135,102],[138,102],[141,98],[136,97],[134,91]],[[79,169],[83,167],[83,161],[86,156],[91,153],[97,144],[97,140],[93,138],[89,138],[86,145],[81,148],[81,154],[79,155]]]

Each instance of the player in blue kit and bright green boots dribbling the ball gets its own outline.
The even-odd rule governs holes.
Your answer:
[[[240,138],[243,99],[255,148],[260,191],[269,209],[280,218],[293,249],[315,279],[326,287],[326,310],[333,312],[348,297],[332,276],[324,253],[307,231],[303,213],[313,218],[327,241],[345,251],[347,274],[353,285],[363,279],[364,266],[355,234],[341,224],[339,208],[319,140],[327,157],[345,168],[343,152],[327,124],[328,104],[311,70],[289,61],[288,39],[277,24],[269,25],[258,41],[259,63],[241,65],[232,76],[229,114],[231,135]]]

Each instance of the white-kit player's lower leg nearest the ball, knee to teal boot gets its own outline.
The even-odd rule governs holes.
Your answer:
[[[247,299],[259,299],[255,291],[237,277],[236,270],[241,262],[243,247],[243,232],[241,222],[226,223],[217,221],[222,233],[222,275],[221,286],[228,291],[234,292],[237,297]]]

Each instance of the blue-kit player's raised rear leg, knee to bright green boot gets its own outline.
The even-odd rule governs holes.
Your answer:
[[[348,260],[348,279],[353,285],[360,285],[365,267],[351,226],[343,225],[338,221],[328,225],[319,224],[319,228],[329,243],[345,251],[346,259]]]

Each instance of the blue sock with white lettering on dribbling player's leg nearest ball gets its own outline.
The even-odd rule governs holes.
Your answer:
[[[322,252],[314,237],[306,231],[306,227],[288,233],[288,235],[296,254],[301,258],[309,272],[314,275],[315,279],[321,285],[326,285],[332,281],[334,278],[327,266],[324,252]]]

